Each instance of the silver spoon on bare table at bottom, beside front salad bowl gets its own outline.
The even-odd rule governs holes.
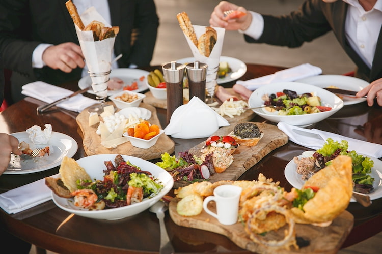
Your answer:
[[[159,219],[160,227],[160,254],[170,254],[174,253],[174,248],[171,245],[169,235],[167,234],[166,225],[165,225],[165,211],[167,211],[168,206],[165,202],[158,200],[154,205],[149,208],[149,211],[156,214],[156,217]]]

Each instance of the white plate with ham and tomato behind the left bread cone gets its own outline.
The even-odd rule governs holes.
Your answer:
[[[120,78],[125,82],[124,86],[131,85],[133,81],[138,82],[138,89],[133,90],[133,92],[142,92],[144,90],[147,90],[147,75],[149,74],[148,71],[140,70],[140,69],[131,69],[131,68],[119,68],[114,69],[110,73],[110,78]],[[144,76],[145,79],[143,81],[140,81],[139,78]],[[92,84],[92,80],[89,76],[83,77],[78,81],[78,87],[80,89],[85,89],[89,87]],[[107,96],[111,96],[113,94],[116,94],[118,92],[122,91],[122,89],[119,90],[113,90],[113,91],[107,91]],[[89,93],[95,94],[92,89],[88,90]]]

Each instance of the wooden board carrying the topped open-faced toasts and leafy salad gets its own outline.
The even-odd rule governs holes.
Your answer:
[[[258,163],[265,155],[271,151],[279,148],[280,146],[288,143],[288,136],[279,130],[277,126],[256,122],[259,126],[260,131],[264,132],[263,138],[259,141],[256,146],[239,146],[237,150],[232,154],[233,163],[222,173],[215,173],[208,179],[209,182],[217,182],[221,180],[237,180],[245,171],[250,169],[253,165]],[[230,126],[222,127],[217,130],[214,135],[223,136],[228,135],[235,124]],[[197,146],[189,149],[189,152],[193,155],[200,156],[201,148],[205,144],[205,141],[201,142]],[[176,181],[174,182],[174,188],[179,188],[188,185],[187,181]]]

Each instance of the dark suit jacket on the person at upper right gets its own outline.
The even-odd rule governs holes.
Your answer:
[[[347,7],[343,1],[324,3],[322,0],[306,0],[298,11],[285,16],[264,17],[264,33],[259,40],[245,36],[248,42],[267,43],[288,47],[299,47],[304,42],[322,36],[333,30],[339,43],[356,63],[358,70],[356,76],[368,82],[382,78],[382,36],[379,33],[373,65],[370,70],[360,56],[354,51],[346,40],[345,18]],[[333,56],[335,60],[335,56]]]

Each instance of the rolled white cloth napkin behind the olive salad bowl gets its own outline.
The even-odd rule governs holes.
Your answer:
[[[236,81],[236,84],[243,85],[253,91],[262,85],[283,81],[295,81],[297,79],[316,76],[321,73],[321,68],[312,66],[310,63],[303,63],[302,65],[281,70],[275,72],[274,74],[269,74],[259,78],[254,78],[247,81],[238,80]]]

